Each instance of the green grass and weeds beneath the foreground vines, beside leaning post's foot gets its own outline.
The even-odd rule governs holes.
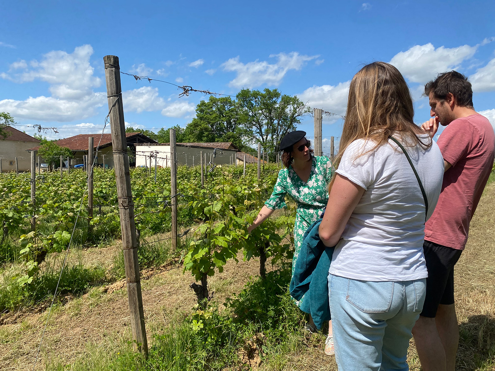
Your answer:
[[[164,329],[148,333],[147,360],[124,339],[111,350],[92,345],[76,362],[53,362],[47,370],[249,370],[259,361],[281,370],[302,342],[303,314],[288,293],[290,277],[288,270],[269,272],[248,282],[223,310],[200,304],[187,317],[173,316]]]

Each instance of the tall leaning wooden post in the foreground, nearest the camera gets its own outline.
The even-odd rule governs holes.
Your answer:
[[[106,95],[110,111],[110,128],[117,182],[117,199],[120,212],[120,229],[127,281],[127,296],[131,313],[132,338],[134,349],[148,357],[148,340],[146,338],[145,315],[138,263],[138,239],[134,221],[134,203],[129,172],[129,155],[125,136],[124,109],[122,106],[122,88],[120,86],[119,58],[114,55],[103,57],[105,67]]]

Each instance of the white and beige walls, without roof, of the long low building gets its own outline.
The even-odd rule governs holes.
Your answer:
[[[206,154],[206,163],[211,161],[214,164],[225,165],[231,163],[231,158],[235,161],[237,153],[234,149],[217,149],[216,156],[213,158],[213,148],[199,148],[177,145],[177,164],[196,166],[199,165],[199,154],[203,151]],[[157,151],[156,165],[161,167],[170,167],[170,145],[162,144],[138,144],[136,145],[136,166],[149,166],[149,155]],[[234,163],[234,162],[232,162]],[[151,167],[154,167],[154,158],[151,159]]]

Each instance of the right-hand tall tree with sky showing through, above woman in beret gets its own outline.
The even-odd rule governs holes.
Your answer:
[[[280,140],[296,130],[300,118],[310,112],[296,95],[282,94],[277,89],[243,89],[236,97],[243,117],[247,117],[244,126],[251,130],[250,142],[261,143],[268,151],[278,151]]]

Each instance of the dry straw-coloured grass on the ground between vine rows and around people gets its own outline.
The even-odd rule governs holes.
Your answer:
[[[478,210],[471,222],[470,237],[455,269],[455,300],[460,328],[457,370],[495,370],[495,183],[487,186]],[[109,268],[112,257],[120,248],[119,242],[101,249],[74,251],[72,259],[85,265]],[[236,265],[229,261],[222,274],[210,280],[215,299],[223,303],[226,297],[239,292],[250,276],[258,274],[257,260]],[[270,265],[267,265],[270,269]],[[146,276],[146,275],[145,275]],[[148,275],[143,284],[143,302],[149,330],[163,328],[171,316],[189,313],[196,303],[188,287],[193,281],[189,273],[173,268]],[[81,298],[69,298],[52,312],[44,345],[42,362],[59,359],[73,362],[84,357],[89,342],[108,343],[129,338],[129,314],[125,285],[117,282],[115,290],[105,293],[94,288]],[[112,291],[112,290],[110,290]],[[13,323],[0,326],[0,365],[2,370],[31,368],[36,355],[47,312],[24,312]],[[281,346],[261,365],[262,370],[337,370],[334,358],[323,353],[324,336],[302,335],[287,329],[292,342]],[[421,370],[411,341],[409,365]]]

